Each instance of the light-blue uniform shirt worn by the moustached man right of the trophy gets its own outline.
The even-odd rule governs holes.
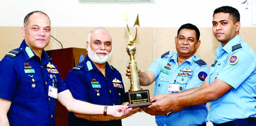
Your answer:
[[[178,66],[177,54],[171,53],[173,56],[158,58],[148,68],[148,71],[156,77],[154,94],[174,93],[168,91],[169,84],[179,84],[178,92],[201,86],[209,74],[206,63],[193,55]],[[158,126],[198,126],[208,122],[207,115],[207,106],[202,104],[189,106],[170,116],[155,116],[155,118]]]

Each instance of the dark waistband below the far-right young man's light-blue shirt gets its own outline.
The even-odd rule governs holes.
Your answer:
[[[233,121],[229,121],[221,124],[216,124],[216,123],[212,123],[212,124],[213,126],[244,126],[244,125],[250,125],[253,123],[256,123],[255,117],[249,117],[247,119],[237,119],[237,120],[233,120]]]

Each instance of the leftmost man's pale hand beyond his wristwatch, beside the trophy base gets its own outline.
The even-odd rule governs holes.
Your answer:
[[[132,108],[128,108],[128,103],[125,105],[118,106],[108,106],[107,114],[112,115],[113,117],[122,117],[123,115],[128,114]]]

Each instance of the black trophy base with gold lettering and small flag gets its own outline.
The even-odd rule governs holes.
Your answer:
[[[148,90],[125,92],[126,101],[129,102],[129,108],[138,108],[150,106],[150,97]]]

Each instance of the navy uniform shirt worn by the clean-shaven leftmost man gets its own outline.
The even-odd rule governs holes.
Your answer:
[[[0,71],[0,98],[12,102],[10,126],[55,126],[55,98],[48,96],[49,86],[58,93],[67,86],[46,52],[40,60],[23,40],[0,61]]]

